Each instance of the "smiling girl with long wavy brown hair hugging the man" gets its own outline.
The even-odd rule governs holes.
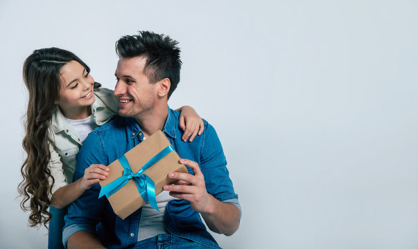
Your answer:
[[[90,165],[82,178],[71,182],[87,134],[119,110],[113,91],[99,88],[89,72],[81,59],[60,48],[35,50],[24,62],[29,100],[23,147],[28,156],[21,167],[21,208],[31,210],[31,226],[49,223],[49,248],[63,248],[67,205],[109,171],[104,165]],[[191,107],[179,110],[182,139],[191,141],[202,133],[202,119]]]

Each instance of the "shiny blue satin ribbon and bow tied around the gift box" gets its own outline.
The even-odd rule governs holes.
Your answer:
[[[149,201],[150,206],[152,208],[155,208],[155,210],[159,211],[157,206],[157,200],[155,199],[155,183],[149,176],[142,173],[146,171],[146,169],[157,163],[159,160],[164,158],[164,156],[167,156],[168,153],[170,153],[173,150],[173,146],[168,145],[165,149],[159,151],[157,155],[148,160],[148,162],[145,165],[143,165],[141,169],[139,169],[139,171],[135,174],[134,172],[132,172],[128,159],[126,159],[125,155],[121,156],[121,158],[119,158],[118,160],[124,169],[123,175],[119,178],[116,178],[116,180],[112,181],[112,183],[103,186],[100,191],[100,194],[98,195],[98,198],[101,198],[104,195],[107,198],[109,198],[109,196],[120,190],[121,187],[128,183],[130,179],[134,178],[135,182],[137,183],[138,192],[139,194],[141,194],[143,201],[145,201],[146,203],[148,203]]]

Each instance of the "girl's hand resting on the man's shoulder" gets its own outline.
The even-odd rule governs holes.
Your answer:
[[[195,109],[184,106],[182,107],[182,112],[180,113],[180,128],[184,131],[182,140],[184,142],[190,137],[189,141],[193,141],[195,136],[202,134],[204,129],[204,124],[202,118],[198,116]]]

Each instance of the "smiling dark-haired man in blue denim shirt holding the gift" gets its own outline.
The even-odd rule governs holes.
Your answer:
[[[228,176],[216,131],[204,121],[204,133],[182,142],[177,111],[168,108],[180,82],[180,49],[168,36],[150,32],[116,42],[119,62],[114,95],[118,117],[90,133],[80,149],[74,180],[92,164],[109,165],[139,142],[162,130],[189,174],[171,172],[178,180],[157,196],[160,212],[149,204],[122,220],[94,185],[69,207],[63,243],[68,248],[219,248],[200,219],[214,232],[231,235],[241,208]]]

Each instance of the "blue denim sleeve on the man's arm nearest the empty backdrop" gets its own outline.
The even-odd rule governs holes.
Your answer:
[[[227,169],[227,160],[214,127],[205,121],[204,139],[200,154],[200,169],[204,175],[207,192],[218,201],[234,203],[241,212],[238,194],[234,192]]]

